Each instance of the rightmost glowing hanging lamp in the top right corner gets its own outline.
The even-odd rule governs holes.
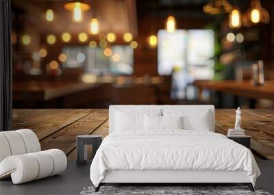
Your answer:
[[[269,23],[269,12],[262,8],[260,0],[252,0],[250,8],[242,16],[242,23],[245,27],[251,27],[258,23]]]

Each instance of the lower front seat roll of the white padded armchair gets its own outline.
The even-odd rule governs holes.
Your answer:
[[[12,155],[0,163],[0,179],[11,174],[14,184],[59,174],[66,169],[66,155],[51,149],[25,155]]]

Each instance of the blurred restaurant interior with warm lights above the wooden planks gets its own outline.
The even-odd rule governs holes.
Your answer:
[[[12,0],[14,108],[274,107],[271,0]]]

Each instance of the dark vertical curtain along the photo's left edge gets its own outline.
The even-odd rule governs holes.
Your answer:
[[[0,131],[12,129],[12,51],[10,0],[0,0]]]

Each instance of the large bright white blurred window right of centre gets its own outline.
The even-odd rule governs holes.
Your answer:
[[[184,71],[192,79],[211,79],[214,61],[214,31],[158,31],[158,73],[171,75],[173,69]]]

